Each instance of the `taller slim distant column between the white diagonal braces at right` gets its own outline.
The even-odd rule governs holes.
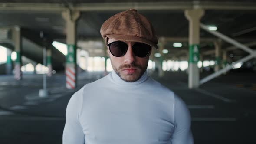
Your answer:
[[[221,40],[218,39],[214,42],[215,46],[215,67],[214,71],[217,72],[221,69]]]

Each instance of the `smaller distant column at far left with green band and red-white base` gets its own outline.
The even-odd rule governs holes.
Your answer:
[[[17,53],[17,58],[15,60],[14,63],[14,78],[17,80],[21,80],[22,79],[22,73],[21,73],[21,55],[22,55],[22,51],[21,51],[21,35],[20,35],[20,27],[19,26],[15,26],[12,29],[12,40],[14,43],[14,51]]]

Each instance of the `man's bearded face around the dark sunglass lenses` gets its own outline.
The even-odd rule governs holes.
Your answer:
[[[108,43],[117,41],[115,39],[108,39]],[[124,56],[116,57],[111,54],[108,47],[108,55],[111,60],[111,65],[117,75],[125,82],[135,82],[141,78],[148,67],[149,55],[146,57],[135,56],[132,52],[132,45],[135,42],[125,42],[128,45],[128,50]]]

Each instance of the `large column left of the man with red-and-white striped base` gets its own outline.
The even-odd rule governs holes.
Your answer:
[[[77,85],[76,70],[76,20],[79,11],[63,11],[62,17],[66,20],[66,44],[68,54],[66,56],[66,88],[74,89]]]

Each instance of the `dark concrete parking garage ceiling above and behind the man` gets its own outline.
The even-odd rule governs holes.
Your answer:
[[[0,0],[0,27],[18,25],[35,43],[34,36],[30,32],[46,33],[48,39],[58,40],[65,43],[65,21],[61,13],[63,10],[79,10],[81,16],[77,25],[77,38],[79,47],[91,52],[91,56],[103,56],[104,48],[93,49],[87,46],[85,41],[102,41],[100,27],[110,16],[122,10],[136,8],[139,13],[146,16],[155,27],[160,37],[167,38],[165,49],[169,50],[167,58],[174,56],[186,56],[188,49],[188,21],[184,16],[184,10],[195,7],[205,9],[205,15],[201,23],[216,25],[220,33],[225,34],[241,43],[253,42],[256,39],[256,2],[255,0]],[[214,49],[213,41],[217,37],[201,29],[201,51],[206,52]],[[208,39],[208,40],[203,40]],[[210,39],[210,40],[209,40]],[[172,43],[182,42],[183,47],[174,48]],[[223,43],[223,48],[230,47]],[[255,46],[251,46],[255,49]],[[233,50],[234,51],[234,50]],[[233,52],[231,51],[231,52]],[[247,53],[236,50],[239,56]],[[213,59],[214,53],[208,55]],[[236,60],[235,58],[233,58]]]

